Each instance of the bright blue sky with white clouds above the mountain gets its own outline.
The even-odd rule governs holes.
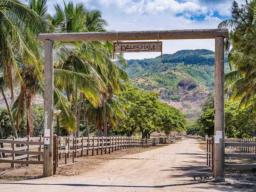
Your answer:
[[[66,0],[67,1],[67,0]],[[172,30],[210,29],[230,18],[233,0],[73,0],[84,3],[88,9],[99,9],[109,23],[108,30]],[[245,0],[237,0],[244,3]],[[48,0],[49,12],[53,4],[63,0]],[[165,40],[163,53],[181,49],[214,50],[214,40]],[[126,59],[144,59],[159,56],[159,53],[126,53]]]

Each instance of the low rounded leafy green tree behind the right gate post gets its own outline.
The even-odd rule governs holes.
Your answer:
[[[225,101],[225,136],[229,138],[250,138],[256,134],[256,124],[251,108],[240,109],[240,101]],[[207,109],[198,119],[197,124],[203,135],[214,135],[214,109]]]

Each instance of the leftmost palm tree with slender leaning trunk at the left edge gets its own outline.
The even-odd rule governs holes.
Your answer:
[[[31,34],[30,30],[41,31],[46,27],[46,23],[33,10],[18,0],[0,0],[0,5],[0,74],[3,75],[1,82],[8,82],[8,88],[11,90],[11,98],[13,99],[14,84],[18,82],[23,86],[23,79],[18,66],[19,61],[26,57],[27,65],[30,66],[37,61],[26,41],[33,39],[34,34]],[[4,89],[1,91],[5,98]],[[5,103],[14,136],[17,138],[10,106],[7,100]]]

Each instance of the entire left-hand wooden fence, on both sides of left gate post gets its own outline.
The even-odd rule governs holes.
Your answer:
[[[73,137],[73,136],[60,136],[54,135],[53,138],[53,161],[54,169],[56,167],[70,165],[74,163],[74,158],[86,155],[99,155],[111,154],[113,151],[118,151],[124,148],[143,147],[148,148],[156,146],[157,144],[165,144],[174,140],[181,139],[175,138],[152,138],[142,139],[127,136],[110,136],[110,137]],[[0,163],[11,163],[11,167],[15,164],[43,164],[44,155],[44,138],[29,137],[15,139],[0,139],[0,143],[11,144],[11,147],[0,148],[0,153],[11,154],[11,157],[0,158]],[[90,153],[89,153],[90,152]],[[64,157],[63,157],[64,155]],[[72,155],[72,156],[71,156]],[[9,155],[10,156],[10,155]],[[31,158],[37,156],[37,158]],[[72,157],[72,162],[68,163],[67,159]],[[59,159],[65,158],[63,165],[59,164]]]

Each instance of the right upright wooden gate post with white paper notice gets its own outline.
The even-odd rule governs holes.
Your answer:
[[[214,135],[220,139],[214,142],[214,179],[225,181],[224,147],[224,38],[215,38],[215,78],[214,78]],[[216,139],[216,136],[215,136]]]

